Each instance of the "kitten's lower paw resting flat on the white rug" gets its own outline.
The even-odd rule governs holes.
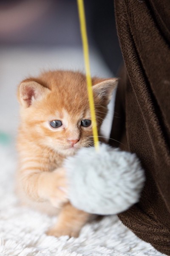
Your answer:
[[[60,236],[69,236],[69,237],[78,237],[79,236],[79,231],[78,230],[74,230],[71,228],[51,228],[50,230],[48,230],[46,232],[46,234],[48,236],[56,236],[56,237],[60,237]]]

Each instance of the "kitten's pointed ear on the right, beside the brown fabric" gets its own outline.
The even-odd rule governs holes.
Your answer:
[[[111,100],[113,90],[116,89],[118,78],[103,79],[101,82],[93,85],[93,92],[99,96],[103,103],[108,105]]]

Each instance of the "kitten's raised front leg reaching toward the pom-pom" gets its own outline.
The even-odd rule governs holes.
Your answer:
[[[64,189],[67,189],[67,179],[63,168],[42,172],[32,167],[18,172],[17,191],[21,198],[25,195],[35,202],[49,201],[52,206],[60,208],[68,202]]]

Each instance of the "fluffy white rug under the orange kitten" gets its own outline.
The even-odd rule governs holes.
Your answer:
[[[145,256],[163,255],[138,239],[117,218],[86,224],[79,238],[46,236],[56,218],[20,207],[14,194],[16,152],[0,145],[0,256]]]

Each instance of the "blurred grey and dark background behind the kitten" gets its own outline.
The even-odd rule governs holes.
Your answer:
[[[92,76],[116,76],[122,63],[113,0],[85,0]],[[0,0],[0,133],[15,135],[17,85],[41,70],[84,72],[76,0]],[[113,100],[106,135],[112,121]]]

